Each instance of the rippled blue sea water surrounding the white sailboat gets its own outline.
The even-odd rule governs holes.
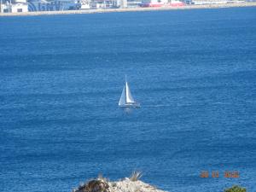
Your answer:
[[[125,74],[140,109],[118,108]],[[134,170],[256,191],[256,8],[0,18],[1,191]]]

